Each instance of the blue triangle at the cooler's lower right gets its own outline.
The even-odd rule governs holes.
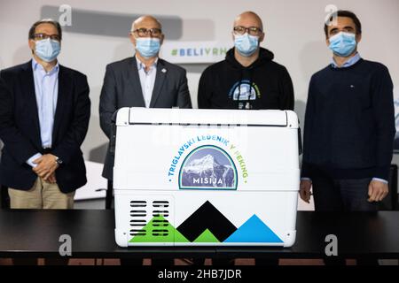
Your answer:
[[[283,242],[255,214],[224,242]]]

